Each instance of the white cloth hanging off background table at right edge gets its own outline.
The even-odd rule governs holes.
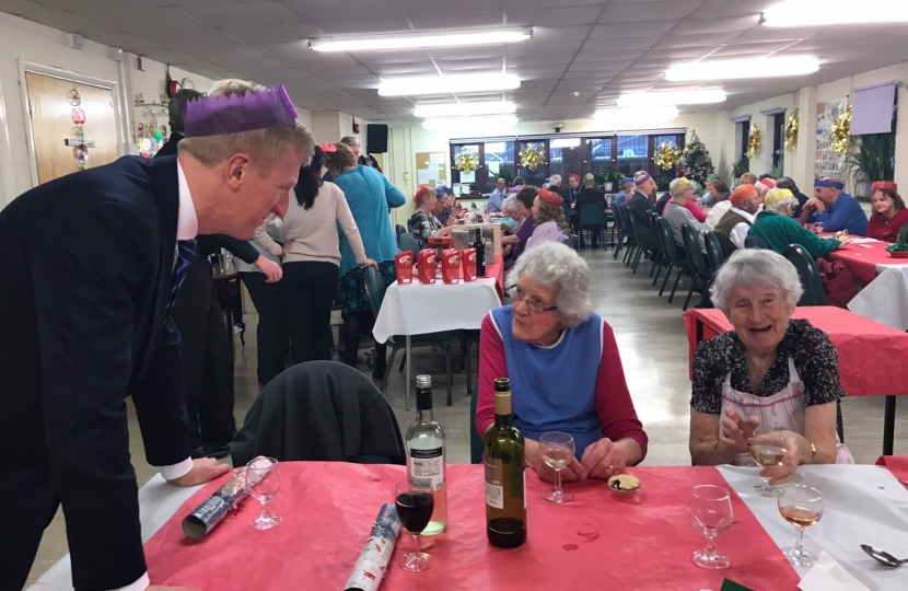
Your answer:
[[[848,309],[886,326],[908,331],[908,265],[877,265],[876,273],[876,279],[848,302]]]

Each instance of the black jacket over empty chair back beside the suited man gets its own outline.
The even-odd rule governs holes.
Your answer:
[[[278,461],[405,464],[397,419],[381,391],[356,369],[309,361],[268,382],[230,444],[234,466]]]

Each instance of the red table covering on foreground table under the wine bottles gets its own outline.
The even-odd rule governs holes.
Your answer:
[[[381,589],[719,589],[727,577],[754,590],[794,591],[799,577],[754,514],[732,491],[735,523],[717,540],[732,559],[723,571],[701,569],[691,554],[706,546],[690,524],[687,503],[697,484],[730,488],[713,467],[632,468],[643,488],[616,499],[602,482],[568,485],[577,499],[564,506],[540,498],[547,485],[527,473],[526,544],[500,549],[486,541],[484,468],[449,466],[450,530],[429,552],[435,566],[410,573],[397,565],[410,547],[398,541]],[[207,540],[193,542],[179,522],[218,486],[189,499],[145,544],[154,584],[232,591],[342,589],[372,522],[394,496],[401,466],[324,462],[281,465],[283,488],[272,499],[283,522],[257,531],[258,503],[248,499]],[[779,518],[781,519],[781,518]],[[401,534],[404,531],[401,530]]]

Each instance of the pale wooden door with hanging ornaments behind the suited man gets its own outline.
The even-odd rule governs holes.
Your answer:
[[[77,140],[80,135],[84,141],[94,142],[94,147],[88,148],[86,167],[117,159],[117,124],[110,89],[35,72],[25,72],[25,85],[39,184],[82,170],[78,148],[67,144],[67,140]],[[84,114],[83,124],[77,123],[79,117],[74,120],[74,109]]]

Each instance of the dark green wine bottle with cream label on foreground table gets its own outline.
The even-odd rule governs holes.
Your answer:
[[[511,381],[494,381],[494,425],[486,433],[486,536],[500,548],[526,542],[523,436],[511,415]]]

